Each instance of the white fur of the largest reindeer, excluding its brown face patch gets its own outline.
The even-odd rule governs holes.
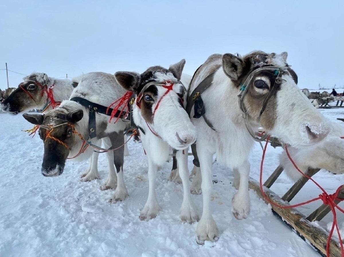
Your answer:
[[[287,54],[283,53],[272,60],[274,65],[284,66]],[[239,57],[238,57],[239,58]],[[238,61],[238,63],[241,63]],[[213,131],[203,118],[191,118],[197,130],[197,154],[200,160],[202,173],[203,214],[197,226],[197,242],[203,244],[205,240],[214,241],[218,237],[218,229],[210,211],[210,198],[212,192],[212,161],[216,153],[217,161],[229,168],[235,169],[234,185],[238,192],[232,200],[232,212],[235,218],[244,219],[250,212],[248,195],[248,175],[250,165],[248,156],[254,140],[249,135],[238,105],[239,88],[227,77],[222,66],[222,56],[209,57],[205,65],[200,68],[198,75],[191,84],[191,92],[210,74],[214,67],[217,68],[212,86],[203,94],[202,99],[206,106],[206,118],[213,124]],[[231,70],[233,67],[229,67]],[[237,69],[242,70],[242,69]],[[232,74],[238,78],[240,74]],[[277,91],[276,122],[272,130],[267,131],[291,145],[301,146],[321,140],[329,132],[326,121],[311,105],[305,95],[293,81],[291,75],[283,75],[280,90]],[[254,88],[257,93],[259,89]],[[191,114],[194,113],[192,109]],[[261,125],[250,121],[254,129]],[[305,129],[308,126],[311,132],[318,135],[311,140]]]

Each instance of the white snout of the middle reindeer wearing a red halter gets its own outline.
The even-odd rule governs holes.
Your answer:
[[[196,128],[175,92],[170,92],[160,102],[154,113],[153,126],[155,132],[176,150],[186,149],[196,141]]]

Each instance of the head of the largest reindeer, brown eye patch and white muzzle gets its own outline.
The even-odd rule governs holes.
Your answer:
[[[291,145],[313,144],[326,137],[330,128],[297,87],[287,56],[287,52],[261,51],[244,57],[225,54],[223,70],[235,86],[246,89],[242,103],[251,121]]]

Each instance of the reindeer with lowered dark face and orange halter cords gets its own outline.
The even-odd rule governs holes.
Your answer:
[[[70,100],[63,101],[59,107],[43,115],[23,115],[32,124],[41,126],[39,135],[44,142],[41,172],[44,176],[61,175],[67,158],[76,157],[75,160],[89,158],[93,153],[93,149],[88,147],[83,151],[86,141],[97,145],[100,139],[108,137],[112,147],[114,149],[118,148],[118,150],[106,153],[110,172],[105,185],[101,189],[116,189],[109,202],[122,201],[128,196],[123,178],[122,147],[124,144],[123,131],[128,122],[119,119],[116,123],[109,123],[109,116],[99,113],[98,108],[97,112],[94,113],[96,119],[93,132],[96,133],[96,137],[90,138],[89,117],[94,108],[81,104],[82,101],[88,101],[93,105],[102,105],[106,109],[105,106],[109,106],[125,92],[118,85],[114,75],[104,72],[91,72],[81,78],[78,86],[72,92]],[[73,101],[73,98],[77,100]],[[80,98],[84,100],[80,100]],[[91,166],[96,166],[97,157],[98,155],[92,156]],[[118,184],[117,187],[116,184]]]

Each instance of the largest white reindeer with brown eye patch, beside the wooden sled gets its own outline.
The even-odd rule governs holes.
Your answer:
[[[287,52],[262,51],[244,57],[216,54],[194,74],[186,110],[189,112],[190,102],[202,174],[203,213],[196,230],[199,244],[218,239],[210,211],[214,153],[217,162],[233,168],[238,191],[232,199],[232,212],[240,220],[250,212],[248,157],[254,141],[259,140],[255,130],[262,127],[294,147],[320,142],[329,133],[323,116],[297,87],[297,75],[288,67],[287,56]],[[199,85],[207,89],[200,93]],[[200,107],[195,112],[193,101],[202,101],[205,113],[197,115]]]

